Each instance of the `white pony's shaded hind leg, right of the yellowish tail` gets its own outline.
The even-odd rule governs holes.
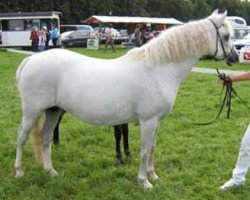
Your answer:
[[[43,141],[43,167],[48,171],[52,176],[57,175],[58,173],[54,169],[51,161],[51,136],[52,132],[56,127],[58,119],[60,117],[60,108],[53,107],[45,111],[45,122],[42,129],[42,141]]]

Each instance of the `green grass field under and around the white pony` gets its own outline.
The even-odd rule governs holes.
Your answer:
[[[111,58],[125,50],[87,51],[90,56]],[[204,122],[219,109],[221,86],[215,75],[190,73],[182,85],[173,112],[160,126],[155,168],[160,180],[151,191],[137,184],[140,163],[140,133],[129,125],[132,158],[124,166],[115,165],[112,127],[97,127],[66,114],[61,126],[61,144],[52,146],[53,163],[59,176],[51,178],[35,162],[30,141],[25,145],[25,176],[14,178],[15,141],[21,119],[15,71],[25,56],[0,51],[0,199],[110,199],[110,200],[239,200],[250,199],[250,179],[239,189],[226,192],[219,186],[231,176],[240,140],[249,123],[249,111],[233,100],[232,119],[220,119],[210,126],[194,126],[182,121]],[[214,67],[202,60],[199,66]],[[223,66],[221,62],[216,65]],[[247,70],[248,65],[238,66]],[[234,68],[236,69],[236,67]],[[249,101],[249,82],[237,83],[239,95]],[[180,115],[182,116],[180,118]]]

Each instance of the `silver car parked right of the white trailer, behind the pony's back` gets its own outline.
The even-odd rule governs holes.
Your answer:
[[[66,47],[87,46],[87,40],[95,38],[95,32],[91,30],[67,31],[61,34],[61,43]]]

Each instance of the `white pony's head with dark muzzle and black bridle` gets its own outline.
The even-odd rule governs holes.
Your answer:
[[[238,61],[238,53],[235,50],[230,38],[232,34],[231,24],[226,20],[227,11],[218,14],[215,10],[208,20],[214,29],[214,47],[211,48],[211,56],[216,60],[226,60],[228,65]]]

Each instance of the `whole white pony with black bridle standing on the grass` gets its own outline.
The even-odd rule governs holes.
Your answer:
[[[139,184],[153,187],[147,175],[158,179],[153,165],[156,129],[172,109],[180,84],[203,55],[227,59],[237,53],[230,42],[226,12],[170,28],[141,48],[111,60],[86,57],[53,49],[26,58],[16,77],[23,118],[18,131],[16,177],[21,177],[23,146],[27,133],[45,112],[41,131],[44,169],[51,175],[51,133],[60,112],[101,125],[139,121],[141,164]]]

